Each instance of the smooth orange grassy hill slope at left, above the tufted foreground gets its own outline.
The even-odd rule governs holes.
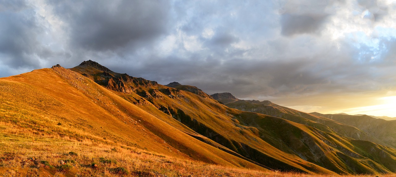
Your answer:
[[[262,169],[191,138],[112,91],[61,67],[0,78],[0,86],[2,129],[16,135],[29,134],[26,137],[30,139],[21,141],[119,143],[169,157]]]

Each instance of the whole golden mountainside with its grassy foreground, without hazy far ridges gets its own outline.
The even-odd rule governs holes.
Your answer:
[[[193,175],[170,169],[183,164],[192,171],[204,164],[228,171],[248,168],[256,175],[268,170],[330,175],[396,171],[396,150],[356,127],[271,102],[252,101],[272,106],[272,116],[236,110],[194,86],[168,86],[90,60],[71,69],[56,65],[0,78],[0,138],[6,144],[0,165],[29,164],[66,176],[96,168],[103,176],[120,175],[123,168],[132,176]],[[363,138],[346,136],[353,133]],[[40,159],[37,164],[35,159]],[[169,166],[149,167],[157,162]],[[198,176],[220,172],[205,174]]]

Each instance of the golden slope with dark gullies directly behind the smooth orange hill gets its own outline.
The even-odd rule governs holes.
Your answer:
[[[100,75],[103,71],[99,71],[94,67],[84,65],[75,67],[72,70],[78,71],[83,75],[88,75],[88,77],[94,78],[96,82],[105,83],[99,79],[103,77],[103,75]],[[120,78],[117,78],[117,75],[119,74],[114,74],[115,78],[113,80],[120,80]],[[109,78],[107,79],[109,80]],[[122,80],[126,79],[123,78]],[[269,169],[309,173],[333,173],[325,168],[302,160],[295,154],[285,154],[284,151],[273,147],[262,140],[257,130],[253,127],[247,127],[238,123],[234,115],[240,112],[227,108],[213,99],[161,85],[153,86],[125,82],[120,85],[132,87],[132,90],[136,93],[145,96],[143,98],[135,92],[115,92],[124,99],[131,102],[144,100],[134,103],[150,114],[167,122],[169,125],[178,125],[177,122],[183,123],[195,132],[210,139],[204,140],[204,142],[208,142],[211,145],[216,144],[213,141],[217,142],[221,146],[215,146],[227,152],[229,152],[228,149],[231,149],[234,152],[230,153],[236,152]],[[124,90],[128,89],[126,88]],[[160,109],[168,114],[164,114]],[[202,138],[198,139],[202,140]]]

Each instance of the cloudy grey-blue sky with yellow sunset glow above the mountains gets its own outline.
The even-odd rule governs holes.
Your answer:
[[[304,112],[396,117],[392,0],[0,0],[0,77],[93,60]]]

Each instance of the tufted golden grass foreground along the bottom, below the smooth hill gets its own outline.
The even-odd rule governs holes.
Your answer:
[[[107,140],[50,136],[0,122],[0,176],[4,177],[331,177],[206,164]],[[349,175],[350,176],[350,175]],[[357,175],[357,177],[393,175]]]

